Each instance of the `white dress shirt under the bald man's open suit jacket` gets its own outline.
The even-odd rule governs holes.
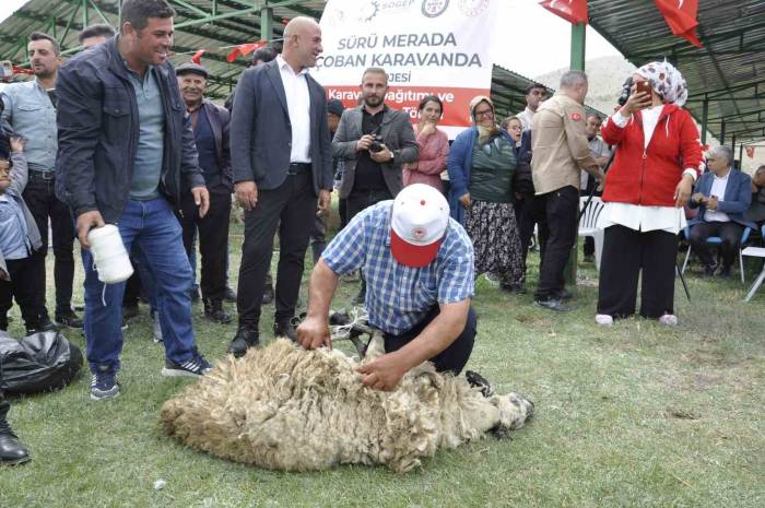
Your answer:
[[[292,146],[290,150],[291,163],[310,162],[310,94],[308,93],[308,82],[306,74],[308,69],[303,69],[295,73],[292,67],[282,58],[276,56],[279,74],[282,76],[284,95],[287,99],[287,111],[290,113],[290,123],[292,126]]]

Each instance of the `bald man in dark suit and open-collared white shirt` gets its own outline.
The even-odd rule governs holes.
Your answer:
[[[323,88],[308,74],[321,54],[321,28],[295,17],[275,60],[247,69],[231,122],[234,191],[245,209],[234,356],[259,342],[269,253],[279,226],[275,335],[296,339],[293,321],[314,216],[330,203],[332,153]]]

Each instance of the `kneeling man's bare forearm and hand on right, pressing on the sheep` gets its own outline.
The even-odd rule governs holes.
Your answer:
[[[409,344],[357,368],[364,375],[362,382],[376,390],[393,390],[404,374],[449,347],[462,333],[470,302],[439,304],[440,314]]]

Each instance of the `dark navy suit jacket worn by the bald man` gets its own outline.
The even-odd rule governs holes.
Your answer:
[[[314,192],[332,190],[332,142],[327,123],[325,90],[306,74],[310,99],[310,164]],[[234,184],[255,181],[275,189],[287,177],[292,126],[279,59],[242,73],[231,116],[231,161]]]

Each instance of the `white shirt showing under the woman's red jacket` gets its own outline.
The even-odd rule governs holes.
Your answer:
[[[644,149],[648,147],[663,108],[662,104],[642,111]],[[621,113],[616,111],[607,121],[609,120],[624,128],[631,118],[624,118]],[[686,168],[683,174],[688,174],[694,180],[696,179],[696,170],[693,168]],[[676,235],[687,225],[687,222],[685,221],[685,210],[682,208],[644,206],[642,204],[609,202],[605,203],[603,213],[600,214],[599,227],[605,228],[614,224],[644,233],[666,231]]]

